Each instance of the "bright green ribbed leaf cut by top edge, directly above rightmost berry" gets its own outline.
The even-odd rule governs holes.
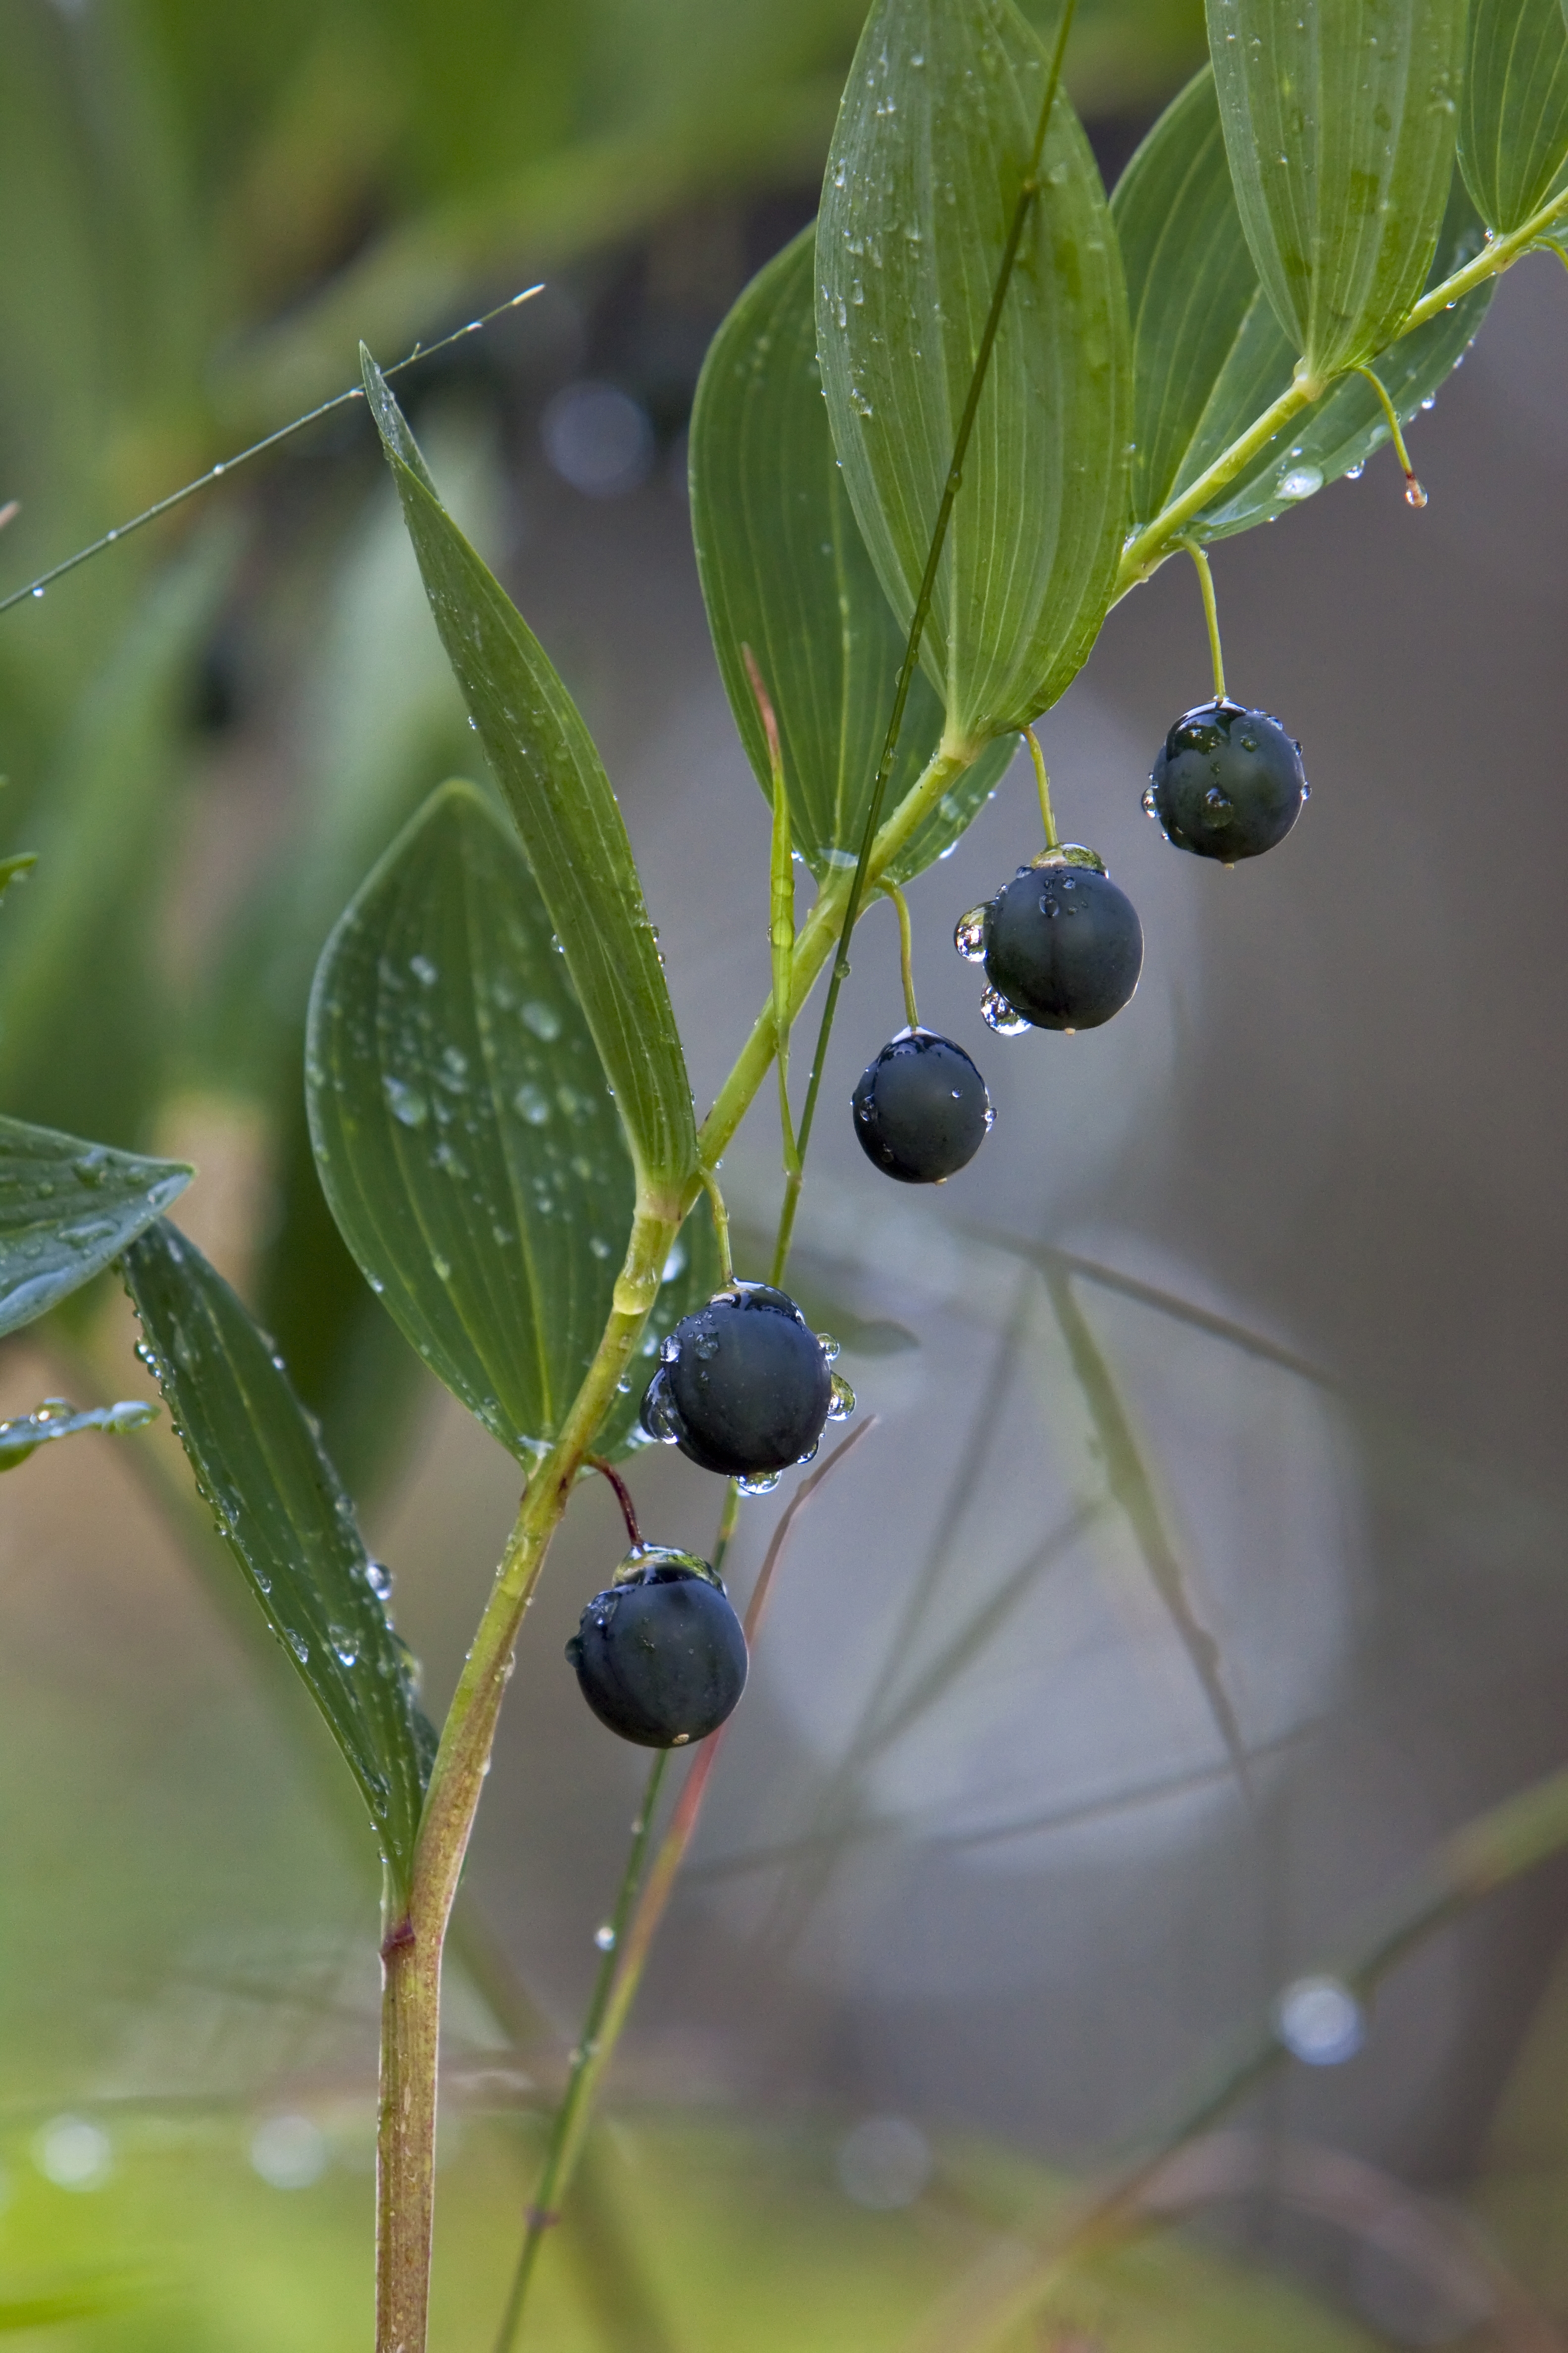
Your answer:
[[[1418,299],[1448,202],[1465,0],[1211,0],[1246,242],[1314,379]]]

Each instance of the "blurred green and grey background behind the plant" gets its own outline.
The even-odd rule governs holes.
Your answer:
[[[623,791],[698,1096],[766,991],[766,814],[682,435],[712,327],[813,209],[856,31],[856,0],[0,0],[0,588],[341,391],[357,336],[388,362],[543,278],[402,391]],[[1201,47],[1187,0],[1084,0],[1067,80],[1107,176]],[[1131,600],[1046,722],[1067,831],[1150,929],[1114,1033],[992,1040],[947,953],[1025,798],[914,892],[926,1019],[983,1056],[999,1134],[933,1202],[823,1134],[799,1289],[882,1428],[804,1522],[538,2344],[903,2346],[1356,1901],[1561,1760],[1549,268],[1420,426],[1427,518],[1373,466],[1215,565],[1232,678],[1316,784],[1279,871],[1178,871],[1138,814],[1206,692],[1187,581]],[[470,746],[355,407],[0,619],[0,852],[40,856],[0,915],[0,1106],[200,1162],[181,1221],[322,1412],[433,1704],[512,1473],[336,1242],[299,1061],[331,920]],[[900,1019],[875,922],[830,1099]],[[726,1181],[762,1231],[766,1118]],[[1079,1278],[1063,1308],[1041,1245],[1145,1292]],[[1105,1492],[1074,1313],[1220,1640],[1255,1817]],[[103,1285],[5,1346],[0,1405],[139,1393],[129,1341]],[[710,1541],[701,1478],[637,1482],[644,1522]],[[748,1506],[741,1586],[776,1511]],[[585,1494],[470,1864],[451,2353],[489,2344],[639,1781],[559,1661],[614,1551]],[[0,2327],[367,2341],[374,1859],[167,1428],[0,1485]],[[1563,2341],[1566,1932],[1547,1871],[1427,1948],[1349,2068],[1253,2101],[1180,2238],[997,2344]]]

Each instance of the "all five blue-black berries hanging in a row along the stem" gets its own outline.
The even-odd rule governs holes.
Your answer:
[[[1044,793],[1041,767],[1051,838]],[[1143,795],[1178,849],[1225,866],[1274,849],[1305,800],[1300,744],[1225,694],[1175,720]],[[914,1019],[903,901],[900,925],[910,1026],[860,1073],[853,1127],[884,1176],[945,1184],[997,1115],[964,1047]],[[1133,901],[1093,849],[1053,838],[959,918],[954,946],[985,965],[980,1014],[1004,1038],[1098,1028],[1131,1000],[1143,969]],[[853,1412],[853,1391],[832,1369],[837,1353],[788,1292],[729,1282],[665,1339],[642,1431],[733,1478],[743,1494],[766,1494],[790,1464],[811,1461],[830,1421]],[[602,1725],[644,1748],[682,1748],[717,1732],[741,1699],[745,1633],[715,1569],[696,1553],[642,1544],[623,1489],[621,1499],[632,1551],[583,1609],[567,1657]]]

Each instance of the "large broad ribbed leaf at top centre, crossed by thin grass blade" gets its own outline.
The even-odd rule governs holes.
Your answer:
[[[818,348],[877,576],[910,626],[1051,82],[1009,0],[877,0],[827,158]],[[1126,520],[1126,299],[1058,92],[922,642],[947,736],[1018,729],[1088,656]]]

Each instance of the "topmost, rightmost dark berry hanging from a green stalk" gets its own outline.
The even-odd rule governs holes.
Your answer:
[[[1166,736],[1143,798],[1166,840],[1199,859],[1258,859],[1307,800],[1300,744],[1267,711],[1199,704]]]

